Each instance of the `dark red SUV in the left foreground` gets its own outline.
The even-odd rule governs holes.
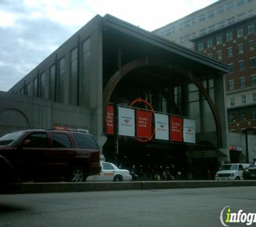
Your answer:
[[[0,183],[85,181],[100,173],[100,151],[88,133],[26,130],[0,138]]]

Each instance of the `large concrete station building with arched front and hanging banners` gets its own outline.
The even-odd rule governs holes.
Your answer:
[[[141,175],[168,166],[205,179],[230,159],[227,70],[113,16],[96,16],[0,93],[0,133],[88,129],[108,161]]]

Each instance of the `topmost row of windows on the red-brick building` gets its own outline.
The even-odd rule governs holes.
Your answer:
[[[223,42],[232,41],[234,38],[240,38],[246,34],[252,34],[253,32],[255,32],[255,26],[254,23],[251,23],[247,25],[247,33],[244,32],[244,27],[239,27],[239,29],[236,30],[236,37],[234,37],[233,31],[226,32],[225,36],[224,34],[218,34],[216,37],[210,37],[206,40],[206,47],[211,48],[214,45],[223,44]],[[203,51],[204,49],[204,41],[198,42],[198,51]]]

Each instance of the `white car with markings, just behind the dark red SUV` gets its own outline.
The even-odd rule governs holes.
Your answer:
[[[88,176],[86,181],[132,181],[132,175],[127,169],[120,169],[111,162],[101,161],[100,174]]]

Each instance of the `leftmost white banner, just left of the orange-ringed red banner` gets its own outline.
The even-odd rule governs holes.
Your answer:
[[[118,108],[118,131],[121,136],[135,136],[134,109]]]

